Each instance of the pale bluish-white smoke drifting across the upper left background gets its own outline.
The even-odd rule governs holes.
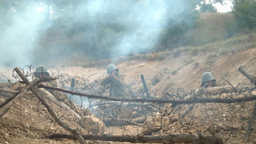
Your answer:
[[[168,20],[175,20],[185,7],[182,0],[82,0],[63,4],[63,9],[54,2],[40,7],[52,8],[51,16],[36,11],[40,4],[32,2],[8,12],[10,22],[0,29],[3,65],[36,67],[72,56],[108,58],[146,52]],[[58,35],[47,39],[52,30]]]

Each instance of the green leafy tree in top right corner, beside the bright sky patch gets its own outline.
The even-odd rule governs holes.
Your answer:
[[[256,29],[256,0],[233,0],[232,13],[242,30]]]

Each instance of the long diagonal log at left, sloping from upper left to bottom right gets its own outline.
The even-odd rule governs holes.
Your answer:
[[[18,67],[14,68],[14,70],[17,72],[17,74],[20,76],[20,78],[22,78],[22,80],[24,82],[26,82],[27,85],[30,84],[29,80],[26,78],[26,76],[24,76],[24,74],[20,71],[20,69]],[[36,97],[42,102],[42,104],[47,108],[48,112],[51,114],[51,116],[54,118],[54,120],[56,120],[56,122],[58,122],[58,124],[60,124],[60,126],[62,126],[62,128],[64,128],[65,130],[67,130],[68,132],[70,132],[71,134],[73,134],[75,136],[75,138],[82,144],[85,144],[85,140],[84,138],[78,133],[78,131],[72,127],[70,127],[68,124],[66,124],[65,122],[63,122],[60,117],[58,116],[58,114],[56,114],[56,112],[53,110],[53,108],[50,106],[50,104],[48,104],[46,102],[46,100],[44,100],[44,98],[40,95],[40,93],[38,92],[38,90],[35,87],[31,87],[30,90],[36,95]]]

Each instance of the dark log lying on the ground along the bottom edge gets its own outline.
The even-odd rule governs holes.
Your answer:
[[[70,134],[51,134],[48,138],[67,138],[76,139]],[[192,144],[222,144],[222,136],[204,135],[202,133],[197,134],[172,134],[164,136],[92,136],[83,135],[86,140],[100,140],[100,141],[112,141],[112,142],[130,142],[130,143],[158,143],[158,144],[175,144],[175,143],[192,143]]]

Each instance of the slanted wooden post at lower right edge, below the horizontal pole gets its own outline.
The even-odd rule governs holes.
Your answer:
[[[256,100],[254,102],[254,107],[253,107],[253,110],[252,110],[252,116],[250,117],[248,128],[247,128],[246,133],[245,133],[244,138],[243,138],[244,142],[248,142],[249,137],[250,137],[250,135],[253,131],[253,128],[254,128],[255,120],[256,120]]]

